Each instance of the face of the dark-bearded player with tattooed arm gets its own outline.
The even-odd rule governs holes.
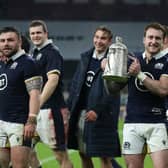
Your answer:
[[[11,57],[21,47],[21,39],[15,32],[4,32],[0,34],[0,51],[5,57]]]

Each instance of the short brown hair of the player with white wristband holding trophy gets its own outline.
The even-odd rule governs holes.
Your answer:
[[[156,29],[156,30],[161,30],[162,33],[163,33],[163,39],[165,38],[166,36],[166,31],[165,31],[165,28],[163,25],[161,25],[160,23],[157,23],[157,22],[154,22],[154,23],[150,23],[148,24],[145,29],[144,29],[144,37],[146,36],[146,32],[148,29],[150,28],[153,28],[153,29]]]

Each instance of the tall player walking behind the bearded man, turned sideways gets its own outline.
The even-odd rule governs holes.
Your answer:
[[[33,58],[36,60],[44,85],[40,95],[40,112],[37,120],[37,133],[55,153],[61,168],[72,168],[68,158],[63,116],[68,116],[64,106],[62,90],[63,57],[58,48],[48,39],[46,23],[33,20],[29,25],[29,35],[34,44]],[[63,116],[61,111],[63,111]],[[67,121],[65,121],[67,123]],[[32,156],[33,158],[34,156]]]

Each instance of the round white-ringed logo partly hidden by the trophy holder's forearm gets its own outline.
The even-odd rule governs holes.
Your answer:
[[[149,78],[154,79],[154,77],[151,73],[149,73],[149,72],[144,72],[144,73]],[[138,78],[135,78],[135,86],[141,92],[148,92],[149,91]]]

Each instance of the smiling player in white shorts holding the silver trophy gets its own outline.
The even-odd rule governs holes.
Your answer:
[[[145,51],[128,63],[128,102],[123,149],[128,168],[144,167],[144,147],[155,168],[168,167],[165,97],[168,95],[168,59],[161,54],[166,32],[159,23],[145,27]]]

